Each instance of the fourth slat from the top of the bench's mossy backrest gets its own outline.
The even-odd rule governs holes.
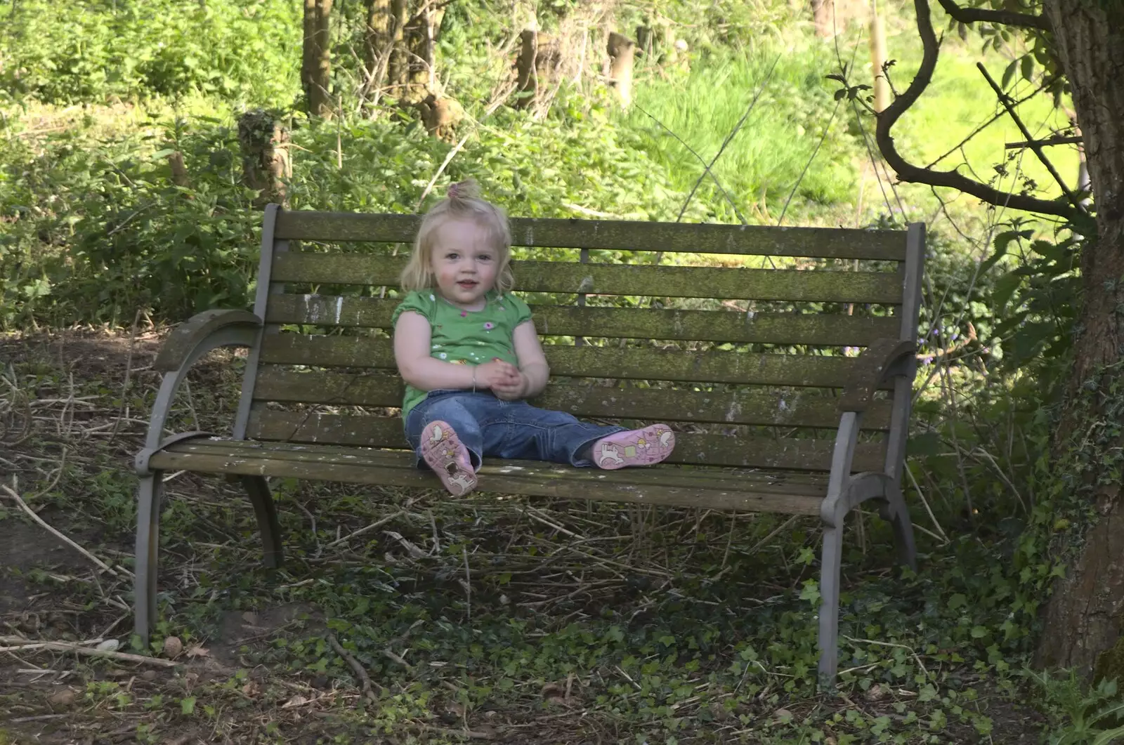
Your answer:
[[[751,385],[843,388],[855,363],[855,357],[843,356],[622,349],[592,345],[572,347],[547,344],[543,351],[552,375]],[[397,369],[390,339],[369,336],[268,335],[262,340],[261,362],[315,367]]]

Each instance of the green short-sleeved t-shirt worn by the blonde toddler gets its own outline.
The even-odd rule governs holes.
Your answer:
[[[513,335],[515,327],[531,320],[531,308],[511,294],[489,292],[483,310],[462,310],[433,290],[407,294],[391,317],[406,310],[420,314],[429,321],[429,356],[454,365],[480,365],[499,357],[518,365]],[[406,385],[402,418],[426,397],[427,391]]]

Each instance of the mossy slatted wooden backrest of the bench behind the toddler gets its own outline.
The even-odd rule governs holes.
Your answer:
[[[268,208],[255,305],[268,326],[247,362],[236,436],[405,447],[390,318],[419,221]],[[827,470],[854,356],[876,338],[916,339],[919,224],[514,218],[511,228],[516,246],[552,260],[513,265],[552,372],[535,403],[674,423],[672,462]],[[658,253],[727,265],[656,265]],[[909,394],[898,385],[868,411],[856,471],[900,463]]]

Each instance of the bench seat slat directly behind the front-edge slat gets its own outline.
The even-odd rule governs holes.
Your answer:
[[[235,440],[220,437],[188,439],[170,448],[175,453],[198,453],[202,455],[225,455],[230,458],[269,458],[300,461],[305,463],[347,463],[355,465],[378,465],[399,467],[413,466],[406,451],[374,449],[351,445],[303,445],[260,440]],[[498,465],[493,465],[498,464]],[[500,473],[554,474],[559,470],[571,473],[566,465],[541,461],[500,461],[489,458],[484,467],[491,466]],[[667,463],[649,469],[622,469],[619,471],[581,470],[577,479],[597,481],[620,481],[625,483],[669,487],[696,487],[724,491],[756,491],[772,494],[803,494],[823,498],[827,493],[827,475],[794,471],[754,471],[723,466],[678,466]]]

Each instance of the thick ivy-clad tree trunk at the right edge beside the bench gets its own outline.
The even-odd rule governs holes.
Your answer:
[[[1120,115],[1124,111],[1124,4],[1048,0],[1044,15],[1053,26],[1072,89],[1097,210],[1097,237],[1081,254],[1084,287],[1069,385],[1072,398],[1090,379],[1104,391],[1114,378],[1124,376],[1108,367],[1124,358],[1124,320],[1118,310],[1124,307],[1124,118]],[[1096,418],[1097,412],[1089,416]],[[1057,444],[1063,446],[1070,434],[1091,424],[1063,419]],[[1124,540],[1120,538],[1124,500],[1115,479],[1103,481],[1107,483],[1097,485],[1094,494],[1099,519],[1087,530],[1067,575],[1055,581],[1046,602],[1035,662],[1112,678],[1124,671],[1120,664],[1124,662]]]

